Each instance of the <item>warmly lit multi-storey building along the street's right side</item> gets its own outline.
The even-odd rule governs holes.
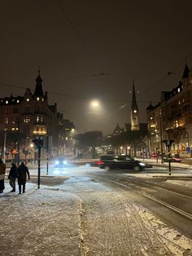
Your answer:
[[[162,91],[159,104],[146,108],[150,148],[166,152],[163,142],[172,139],[172,152],[190,156],[192,148],[192,72],[185,65],[184,73],[171,91]]]

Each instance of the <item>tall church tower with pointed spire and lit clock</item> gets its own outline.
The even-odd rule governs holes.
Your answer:
[[[132,104],[131,104],[131,130],[140,130],[139,127],[139,112],[135,95],[135,86],[133,80]]]

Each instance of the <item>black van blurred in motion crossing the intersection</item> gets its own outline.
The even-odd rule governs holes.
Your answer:
[[[143,170],[146,165],[140,161],[134,160],[129,156],[102,156],[98,161],[98,166],[104,170],[125,169],[125,170]]]

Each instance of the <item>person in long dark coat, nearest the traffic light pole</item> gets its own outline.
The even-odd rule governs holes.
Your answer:
[[[17,169],[17,180],[19,185],[19,194],[21,193],[21,186],[23,185],[23,193],[25,192],[25,184],[28,174],[28,180],[30,179],[30,174],[28,167],[24,165],[24,161],[21,162],[20,166]]]

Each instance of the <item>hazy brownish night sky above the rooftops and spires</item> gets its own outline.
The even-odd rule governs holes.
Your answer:
[[[0,0],[0,98],[34,91],[40,67],[49,104],[76,132],[107,134],[130,122],[134,79],[144,122],[192,68],[191,10],[191,0]]]

